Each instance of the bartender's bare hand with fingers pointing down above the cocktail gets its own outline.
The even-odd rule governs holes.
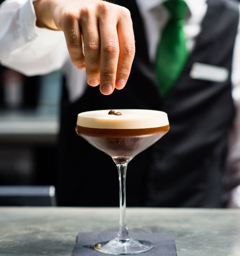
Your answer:
[[[102,0],[37,0],[34,8],[38,27],[64,32],[72,63],[86,68],[89,85],[100,83],[104,95],[125,86],[135,53],[128,9]]]

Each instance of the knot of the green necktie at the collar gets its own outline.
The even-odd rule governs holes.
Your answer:
[[[181,20],[185,18],[187,4],[183,0],[168,0],[163,4],[171,14],[171,19]]]

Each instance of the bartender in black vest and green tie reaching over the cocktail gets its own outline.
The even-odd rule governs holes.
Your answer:
[[[232,95],[240,85],[238,2],[6,0],[0,24],[2,64],[29,76],[65,71],[59,205],[118,205],[112,159],[78,137],[75,123],[83,111],[132,108],[165,111],[170,131],[129,163],[127,205],[224,206]]]

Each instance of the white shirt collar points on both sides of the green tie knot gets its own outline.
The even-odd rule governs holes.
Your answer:
[[[166,2],[166,0],[136,0],[141,8],[146,11],[150,11],[151,9],[161,5]],[[195,13],[198,10],[198,6],[202,6],[206,3],[206,0],[184,0],[189,8],[190,13]]]

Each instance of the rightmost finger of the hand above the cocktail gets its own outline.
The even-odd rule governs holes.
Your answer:
[[[118,57],[115,87],[118,90],[123,89],[128,80],[135,54],[133,24],[130,12],[127,9],[125,9],[124,12],[125,15],[121,15],[117,25],[120,53]]]

